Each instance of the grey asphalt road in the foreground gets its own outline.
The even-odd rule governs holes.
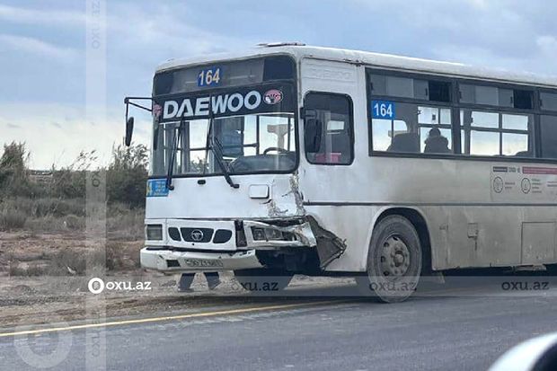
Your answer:
[[[0,334],[0,368],[482,370],[518,342],[557,331],[557,286],[527,295],[473,287],[396,305],[276,298],[228,310],[217,306],[174,319],[112,319],[108,327]]]

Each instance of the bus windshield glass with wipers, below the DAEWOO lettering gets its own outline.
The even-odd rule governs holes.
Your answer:
[[[176,150],[173,174],[222,173],[214,151],[219,146],[228,172],[291,172],[296,167],[296,140],[293,112],[272,112],[217,118],[209,133],[209,119],[193,119],[159,124],[158,146],[153,151],[151,174],[165,176]],[[172,148],[174,137],[180,140]],[[156,131],[156,130],[155,130]],[[213,139],[213,140],[211,140]]]

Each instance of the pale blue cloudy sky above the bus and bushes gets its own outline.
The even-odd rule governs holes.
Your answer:
[[[553,1],[110,0],[106,106],[85,115],[93,1],[0,0],[0,145],[26,142],[33,168],[93,148],[107,161],[121,142],[123,97],[149,95],[155,67],[172,57],[296,40],[557,75]]]

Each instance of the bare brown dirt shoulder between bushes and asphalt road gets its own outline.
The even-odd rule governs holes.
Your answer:
[[[205,278],[197,275],[192,292],[179,293],[174,277],[138,268],[142,245],[141,241],[126,241],[120,236],[106,243],[103,250],[99,243],[86,242],[83,235],[0,233],[0,328],[299,300],[269,297],[266,293],[250,295],[232,272],[221,275],[221,285],[214,291],[209,291]],[[107,261],[106,265],[102,267],[99,259]],[[86,271],[88,262],[93,270],[104,270],[99,277],[105,283],[119,282],[120,289],[93,295],[87,285],[97,276]],[[138,287],[138,283],[145,288],[147,282],[149,289],[121,289]],[[296,289],[350,282],[350,278],[296,276],[290,286]]]

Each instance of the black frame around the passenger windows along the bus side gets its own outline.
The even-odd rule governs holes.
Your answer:
[[[417,159],[451,159],[451,160],[465,160],[465,161],[491,161],[491,162],[505,162],[505,163],[557,163],[557,159],[542,158],[541,157],[541,130],[540,121],[541,116],[557,116],[557,111],[552,110],[541,110],[540,93],[557,93],[557,88],[550,89],[545,87],[540,87],[536,85],[528,84],[511,84],[507,82],[497,82],[489,80],[481,80],[478,78],[467,78],[467,77],[457,77],[457,76],[446,76],[446,75],[436,75],[428,72],[407,72],[396,69],[380,68],[377,66],[365,66],[366,75],[366,94],[367,94],[367,143],[368,143],[368,156],[370,157],[403,157],[403,158],[417,158]],[[436,101],[426,101],[420,99],[395,97],[395,96],[385,96],[385,95],[374,95],[371,91],[371,81],[370,75],[392,75],[397,77],[408,77],[417,78],[420,80],[436,80],[441,82],[450,82],[452,84],[452,95],[451,102],[436,102]],[[493,106],[488,104],[476,104],[476,103],[461,103],[460,97],[460,84],[474,84],[483,86],[494,86],[503,89],[513,89],[513,90],[523,90],[533,92],[533,109],[523,110],[514,107],[501,107]],[[373,149],[373,119],[371,112],[371,102],[374,100],[386,100],[401,103],[412,103],[418,105],[432,105],[438,107],[446,107],[451,110],[452,118],[452,146],[453,154],[423,154],[423,153],[397,153],[397,152],[386,152],[386,151],[375,151]],[[532,126],[531,135],[533,136],[532,143],[534,145],[534,156],[533,157],[515,157],[515,156],[505,156],[505,155],[464,155],[462,154],[461,137],[460,137],[460,110],[482,110],[482,111],[492,111],[499,114],[528,114],[533,115],[534,123]]]

